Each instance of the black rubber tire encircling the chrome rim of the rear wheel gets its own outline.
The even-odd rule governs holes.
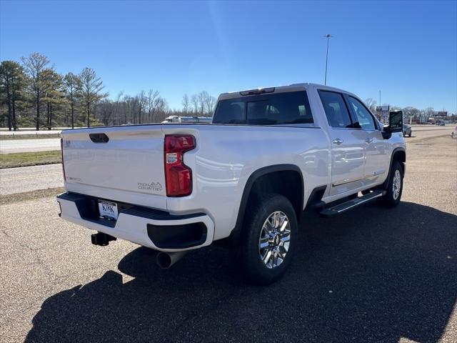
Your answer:
[[[241,231],[240,241],[236,246],[236,258],[238,259],[238,266],[241,267],[243,277],[253,284],[271,284],[283,276],[287,267],[291,263],[293,252],[296,246],[296,239],[298,234],[298,224],[296,213],[293,209],[291,202],[280,194],[266,194],[260,199],[250,204],[246,209],[246,220]],[[263,224],[274,212],[282,212],[286,215],[289,223],[290,236],[288,241],[288,249],[286,254],[283,255],[282,262],[276,260],[278,265],[267,267],[263,262],[261,250],[259,248],[261,234],[264,234]],[[274,241],[274,239],[273,239]],[[282,243],[283,244],[283,243]],[[273,248],[265,248],[273,249]],[[265,253],[265,256],[268,253]],[[268,255],[268,256],[271,256]],[[277,254],[275,256],[278,256]],[[274,261],[274,259],[272,260]]]

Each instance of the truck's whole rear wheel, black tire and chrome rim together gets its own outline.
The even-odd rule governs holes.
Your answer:
[[[279,194],[267,194],[247,210],[236,249],[238,262],[249,282],[271,284],[291,263],[298,232],[295,210]]]

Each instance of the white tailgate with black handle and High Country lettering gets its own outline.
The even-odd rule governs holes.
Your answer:
[[[67,191],[166,209],[161,125],[77,129],[62,137]]]

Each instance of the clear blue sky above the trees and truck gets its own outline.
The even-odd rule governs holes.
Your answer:
[[[111,98],[328,84],[398,106],[457,109],[457,1],[5,1],[0,59],[85,66]]]

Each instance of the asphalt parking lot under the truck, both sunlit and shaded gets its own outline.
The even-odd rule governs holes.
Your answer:
[[[90,244],[54,198],[0,208],[1,342],[457,342],[457,139],[408,143],[401,204],[303,216],[283,279],[209,247],[168,270]]]

